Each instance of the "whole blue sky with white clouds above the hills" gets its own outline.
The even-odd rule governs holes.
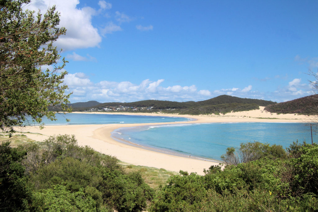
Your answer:
[[[313,94],[318,1],[31,0],[57,6],[70,101],[283,102]]]

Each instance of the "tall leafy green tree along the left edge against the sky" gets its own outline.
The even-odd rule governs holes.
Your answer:
[[[22,10],[27,3],[0,0],[0,129],[10,133],[26,117],[38,123],[45,116],[54,120],[49,106],[70,111],[63,84],[67,72],[60,72],[67,61],[52,45],[66,29],[57,27],[55,6],[35,17],[34,11]],[[44,66],[50,68],[42,71]]]

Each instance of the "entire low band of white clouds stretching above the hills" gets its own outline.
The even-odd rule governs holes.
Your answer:
[[[200,101],[223,94],[241,98],[282,102],[313,94],[310,84],[302,83],[301,79],[293,79],[286,83],[284,87],[273,92],[253,90],[252,85],[243,88],[233,87],[210,92],[204,89],[197,90],[196,85],[163,86],[164,79],[158,79],[156,81],[145,79],[139,84],[129,81],[100,81],[93,83],[89,77],[82,72],[66,75],[64,82],[69,85],[68,91],[73,92],[70,98],[71,102],[89,100],[100,102],[133,102],[147,99]]]

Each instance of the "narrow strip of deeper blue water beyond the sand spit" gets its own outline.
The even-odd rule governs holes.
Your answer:
[[[56,114],[58,120],[43,119],[45,125],[77,125],[77,124],[135,124],[135,123],[164,123],[189,121],[191,119],[167,116],[135,116],[117,114],[66,113]],[[67,122],[65,119],[69,119]],[[34,123],[29,123],[34,125]]]

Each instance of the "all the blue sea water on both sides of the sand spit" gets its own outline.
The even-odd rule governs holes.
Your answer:
[[[288,147],[298,140],[311,143],[308,123],[209,123],[187,124],[190,119],[180,117],[135,116],[115,114],[57,114],[57,121],[43,120],[46,125],[162,123],[160,126],[120,128],[112,133],[114,139],[128,144],[163,151],[168,154],[195,156],[221,160],[227,147],[239,147],[242,142],[259,141]],[[70,119],[66,122],[65,118]],[[183,124],[167,125],[164,122]],[[30,123],[30,125],[33,125]],[[313,133],[313,140],[318,136]]]

